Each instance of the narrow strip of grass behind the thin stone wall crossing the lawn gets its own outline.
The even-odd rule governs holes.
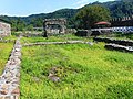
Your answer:
[[[82,40],[82,41],[92,41],[92,38],[86,37],[78,37],[72,34],[66,35],[59,35],[59,36],[49,36],[49,38],[45,37],[22,37],[21,43],[35,43],[35,42],[65,42],[65,41],[75,41],[75,40]]]

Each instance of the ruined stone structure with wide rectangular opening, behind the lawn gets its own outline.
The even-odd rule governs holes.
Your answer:
[[[44,36],[64,34],[66,32],[65,19],[45,19],[43,22]]]

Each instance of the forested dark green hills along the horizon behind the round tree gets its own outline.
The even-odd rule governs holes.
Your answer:
[[[93,6],[93,4],[100,4],[108,8],[111,11],[112,18],[122,18],[133,14],[133,0],[115,0],[103,3],[93,2],[86,6]],[[42,26],[43,19],[65,18],[68,20],[68,25],[73,26],[73,16],[76,14],[79,10],[80,9],[61,9],[52,13],[40,13],[40,14],[32,14],[29,16],[1,15],[0,19],[10,21],[12,23],[12,26],[18,25],[18,23],[23,23],[23,26],[25,25]]]

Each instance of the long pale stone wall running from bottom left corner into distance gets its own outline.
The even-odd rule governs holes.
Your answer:
[[[0,99],[19,99],[20,97],[20,64],[21,44],[19,37],[16,41],[12,53],[0,76]]]

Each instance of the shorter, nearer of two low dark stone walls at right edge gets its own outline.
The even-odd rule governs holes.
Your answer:
[[[115,51],[121,51],[121,52],[131,52],[133,53],[133,47],[131,46],[122,46],[122,45],[117,45],[117,44],[106,44],[105,48],[108,50],[115,50]]]

